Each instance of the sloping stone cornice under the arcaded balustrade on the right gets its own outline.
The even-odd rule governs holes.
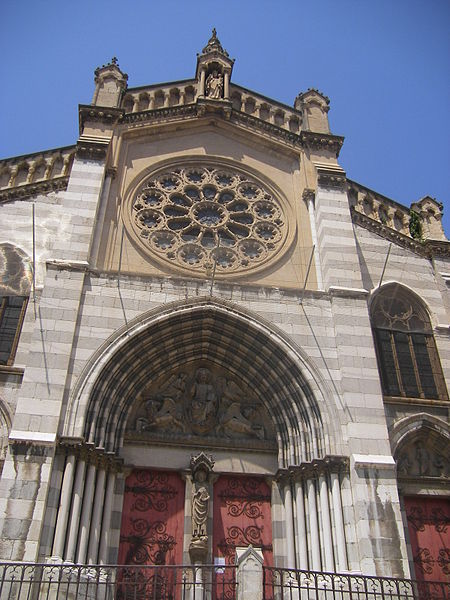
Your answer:
[[[386,225],[383,225],[379,221],[375,221],[375,219],[371,219],[367,215],[364,215],[352,206],[351,207],[351,215],[353,223],[364,227],[368,231],[372,231],[377,235],[389,240],[397,244],[398,246],[402,246],[407,250],[411,250],[420,256],[424,256],[425,258],[432,258],[434,256],[439,256],[442,258],[450,257],[450,242],[441,241],[441,240],[424,240],[423,242],[419,240],[415,240],[414,238],[410,238],[399,231],[395,231]]]

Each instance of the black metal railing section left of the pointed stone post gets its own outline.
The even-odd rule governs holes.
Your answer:
[[[0,600],[228,600],[236,569],[0,563]]]

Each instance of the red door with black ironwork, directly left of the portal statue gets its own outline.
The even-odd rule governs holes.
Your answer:
[[[133,471],[125,481],[120,530],[122,598],[173,598],[183,562],[184,482],[178,473]],[[158,568],[141,569],[152,565]]]

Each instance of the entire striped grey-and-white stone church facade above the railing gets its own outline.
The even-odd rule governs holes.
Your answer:
[[[233,63],[113,59],[76,144],[0,161],[0,558],[447,581],[442,207]]]

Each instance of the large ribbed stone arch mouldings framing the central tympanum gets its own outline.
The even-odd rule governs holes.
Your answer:
[[[302,352],[254,315],[213,299],[167,305],[110,338],[80,378],[64,434],[118,451],[142,388],[198,361],[222,366],[259,396],[275,424],[280,467],[336,452],[331,394]]]

